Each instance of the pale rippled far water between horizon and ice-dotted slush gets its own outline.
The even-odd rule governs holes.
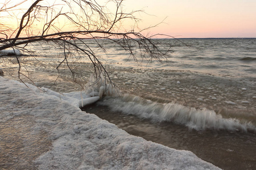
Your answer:
[[[156,39],[155,42],[161,44],[160,49],[171,49],[167,60],[163,59],[162,63],[148,62],[138,56],[138,63],[134,63],[134,59],[112,41],[97,41],[106,52],[93,40],[86,40],[86,44],[97,56],[101,56],[102,62],[110,66],[142,66],[144,69],[189,70],[235,78],[256,78],[256,39]],[[60,56],[63,49],[51,43],[34,44],[30,50],[40,55],[39,61],[61,61],[63,58],[63,55]],[[89,62],[83,56],[69,59],[69,62]]]

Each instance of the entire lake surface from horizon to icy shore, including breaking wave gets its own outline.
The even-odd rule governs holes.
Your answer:
[[[84,111],[149,141],[190,150],[220,168],[255,169],[256,39],[156,40],[172,50],[162,63],[136,63],[118,46],[100,41],[107,53],[93,41],[88,45],[102,56],[120,94]],[[34,44],[31,50],[36,56],[20,61],[40,87],[79,91],[92,73],[88,59],[70,58],[80,75],[74,85],[67,68],[60,67],[60,74],[55,69],[63,60],[59,47]],[[5,76],[16,79],[15,58],[0,59]]]

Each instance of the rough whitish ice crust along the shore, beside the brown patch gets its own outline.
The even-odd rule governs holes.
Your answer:
[[[47,131],[52,149],[35,159],[39,169],[219,169],[190,151],[134,137],[60,98],[0,77],[1,121],[34,116],[31,133]]]

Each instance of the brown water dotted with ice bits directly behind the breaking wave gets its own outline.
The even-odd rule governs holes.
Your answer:
[[[226,118],[239,118],[256,125],[256,79],[228,78],[179,70],[115,67],[113,71],[115,75],[112,79],[123,94],[133,94],[159,103],[175,102],[197,109],[207,108]],[[230,105],[228,101],[235,105]]]

